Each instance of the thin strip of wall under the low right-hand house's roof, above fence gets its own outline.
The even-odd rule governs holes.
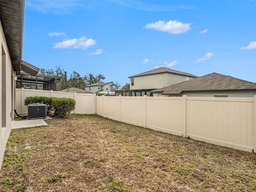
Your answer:
[[[204,91],[204,92],[184,92],[178,95],[162,95],[161,93],[153,93],[154,97],[181,97],[187,95],[188,97],[214,97],[214,95],[228,95],[228,97],[250,98],[256,95],[256,91]]]

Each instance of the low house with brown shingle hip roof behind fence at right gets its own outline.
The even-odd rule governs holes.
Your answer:
[[[253,97],[256,83],[235,77],[211,73],[186,82],[151,91],[154,96],[190,97]]]

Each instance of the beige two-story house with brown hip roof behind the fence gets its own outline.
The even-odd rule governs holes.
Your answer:
[[[116,95],[143,96],[146,94],[148,96],[152,96],[152,94],[150,94],[150,91],[152,90],[187,81],[196,77],[197,76],[193,74],[160,67],[130,76],[130,90],[116,91]]]

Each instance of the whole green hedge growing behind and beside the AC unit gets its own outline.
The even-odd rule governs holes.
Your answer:
[[[49,98],[49,97],[27,97],[25,105],[32,103],[44,103],[47,106],[47,115],[54,111],[55,117],[67,117],[71,111],[75,110],[76,101],[70,98]]]

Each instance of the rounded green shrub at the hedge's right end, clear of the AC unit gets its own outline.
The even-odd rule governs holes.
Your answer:
[[[75,110],[76,101],[70,98],[52,98],[53,110],[56,117],[67,117]]]

